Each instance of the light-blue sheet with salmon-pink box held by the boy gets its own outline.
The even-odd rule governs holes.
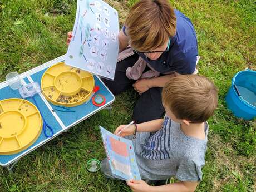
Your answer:
[[[121,180],[141,180],[132,141],[101,126],[100,131],[112,175]]]

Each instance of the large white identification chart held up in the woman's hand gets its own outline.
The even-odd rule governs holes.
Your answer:
[[[119,50],[117,11],[102,0],[77,0],[65,64],[114,80]]]

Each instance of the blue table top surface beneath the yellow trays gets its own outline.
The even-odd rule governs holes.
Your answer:
[[[35,82],[41,83],[41,77],[43,73],[47,70],[47,68],[41,71],[38,71],[36,73],[33,73],[32,75],[29,76],[29,78],[31,78]],[[24,82],[30,83],[31,81],[29,81],[29,78],[27,77],[23,78]],[[54,112],[56,113],[55,115],[58,116],[58,119],[61,120],[61,122],[59,122],[55,118],[52,110],[49,109],[49,107],[46,105],[45,101],[42,100],[40,95],[34,96],[37,102],[37,105],[42,113],[43,118],[53,128],[53,131],[54,131],[53,137],[61,134],[63,131],[76,125],[78,122],[85,120],[87,117],[91,116],[92,114],[95,114],[97,111],[104,109],[104,107],[114,102],[115,97],[102,83],[100,78],[97,76],[94,76],[94,79],[95,79],[95,85],[98,85],[100,87],[100,90],[97,93],[104,95],[106,97],[106,104],[101,107],[96,107],[95,105],[92,104],[92,101],[89,101],[87,104],[84,103],[76,107],[70,107],[70,109],[75,112],[55,111]],[[11,88],[9,88],[9,86],[0,88],[0,100],[8,99],[8,98],[21,98],[21,96],[19,95],[18,90],[12,90]],[[32,99],[28,98],[28,101],[34,103]],[[52,107],[53,110],[56,109],[55,105],[50,104],[50,106]],[[26,150],[23,150],[13,155],[0,155],[0,165],[8,166],[9,164],[12,164],[14,161],[18,160],[22,156],[28,154],[29,152],[35,150],[37,147],[50,141],[51,139],[53,139],[53,137],[47,138],[42,131],[38,139]]]

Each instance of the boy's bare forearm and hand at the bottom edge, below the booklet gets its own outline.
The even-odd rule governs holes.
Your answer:
[[[198,182],[180,181],[168,185],[150,186],[143,180],[131,180],[127,181],[127,185],[134,192],[194,192]]]

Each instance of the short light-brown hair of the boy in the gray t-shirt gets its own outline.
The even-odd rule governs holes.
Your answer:
[[[162,100],[176,118],[204,122],[218,105],[218,89],[204,76],[179,75],[165,84]]]

